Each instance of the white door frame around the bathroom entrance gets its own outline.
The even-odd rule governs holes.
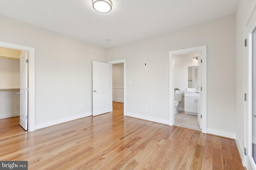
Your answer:
[[[169,125],[174,125],[174,56],[194,53],[200,51],[202,54],[202,133],[207,133],[207,86],[206,86],[206,78],[207,78],[207,70],[206,70],[206,58],[207,51],[206,45],[199,47],[192,47],[187,49],[180,49],[169,52]],[[199,61],[198,61],[199,62]]]

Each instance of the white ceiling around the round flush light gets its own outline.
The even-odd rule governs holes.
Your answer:
[[[238,4],[238,0],[111,1],[112,11],[102,14],[92,8],[92,0],[0,0],[0,15],[113,47],[232,14]]]

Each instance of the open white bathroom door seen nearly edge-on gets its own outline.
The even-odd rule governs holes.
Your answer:
[[[197,88],[197,92],[198,92],[198,98],[197,98],[197,121],[198,121],[198,125],[200,127],[200,129],[202,129],[202,53],[200,53],[200,55],[198,56],[198,88]]]

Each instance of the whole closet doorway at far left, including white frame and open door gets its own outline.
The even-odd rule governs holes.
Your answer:
[[[0,48],[0,119],[20,116],[20,125],[34,131],[34,48],[2,41]]]

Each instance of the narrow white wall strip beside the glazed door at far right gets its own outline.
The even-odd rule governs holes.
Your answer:
[[[250,8],[253,0],[240,0],[236,12],[236,122],[235,130],[238,140],[238,148],[243,151],[244,130],[247,124],[244,124],[244,27],[248,20]],[[244,154],[241,154],[242,157]],[[248,167],[247,167],[248,168]]]

